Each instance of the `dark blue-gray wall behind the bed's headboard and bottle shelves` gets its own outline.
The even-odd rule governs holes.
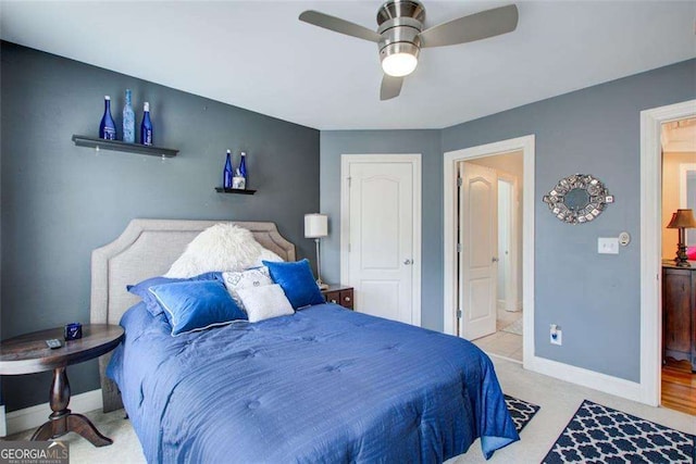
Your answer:
[[[1,60],[3,339],[89,322],[90,252],[134,217],[273,221],[314,255],[303,214],[319,210],[319,130],[9,42]],[[73,145],[98,135],[104,95],[120,125],[126,88],[177,158]],[[214,192],[227,148],[249,153],[254,196]],[[69,375],[73,393],[99,388],[96,362]],[[49,374],[3,377],[8,410],[48,401],[49,386]]]

